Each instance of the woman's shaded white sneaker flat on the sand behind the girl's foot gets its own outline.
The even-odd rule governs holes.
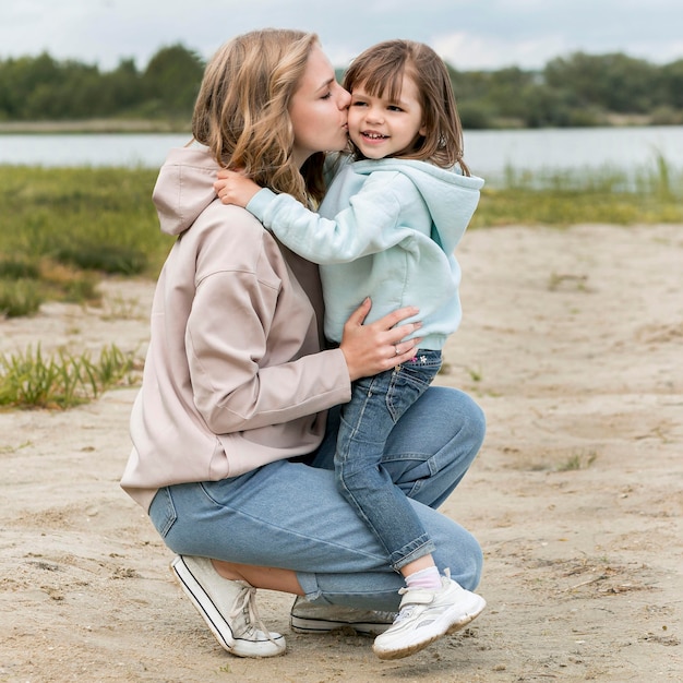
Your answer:
[[[295,633],[329,633],[352,628],[361,635],[384,633],[396,619],[395,612],[360,610],[340,604],[315,604],[298,597],[291,607],[289,625]]]

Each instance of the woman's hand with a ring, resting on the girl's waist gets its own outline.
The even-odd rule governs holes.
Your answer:
[[[366,299],[344,325],[339,348],[344,351],[351,381],[409,361],[421,342],[419,337],[406,342],[402,339],[419,329],[422,323],[398,324],[402,320],[417,315],[419,309],[398,309],[374,323],[363,325],[371,305],[370,298]]]

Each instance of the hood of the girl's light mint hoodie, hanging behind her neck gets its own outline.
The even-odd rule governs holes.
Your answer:
[[[354,163],[357,173],[399,171],[410,178],[432,216],[432,239],[447,253],[460,241],[479,203],[483,179],[464,176],[456,167],[440,168],[414,159],[370,159]]]

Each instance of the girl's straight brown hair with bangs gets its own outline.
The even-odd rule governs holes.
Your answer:
[[[459,165],[469,176],[463,160],[463,127],[455,104],[451,76],[443,60],[422,43],[385,40],[361,52],[344,75],[344,87],[350,93],[362,86],[373,97],[398,100],[404,75],[418,89],[422,120],[427,131],[407,149],[394,155],[404,159],[431,161],[450,168]],[[356,156],[362,156],[355,149]]]

